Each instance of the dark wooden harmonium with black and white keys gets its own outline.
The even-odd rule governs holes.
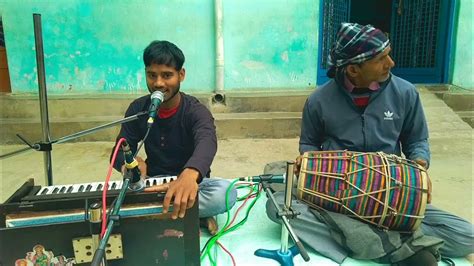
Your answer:
[[[146,185],[175,178],[148,178]],[[108,183],[108,209],[121,185]],[[0,204],[0,266],[90,265],[103,189],[103,182],[45,187],[25,182]],[[199,265],[198,204],[173,220],[162,212],[163,199],[163,193],[127,191],[106,245],[107,265]]]

